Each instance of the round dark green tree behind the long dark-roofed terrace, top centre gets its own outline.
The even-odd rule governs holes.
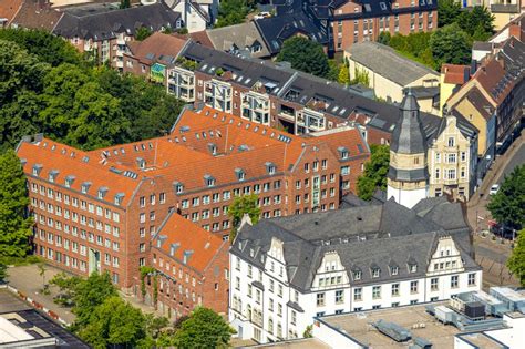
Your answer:
[[[277,55],[277,61],[290,62],[291,68],[321,78],[327,78],[330,72],[322,45],[303,37],[286,40]]]

